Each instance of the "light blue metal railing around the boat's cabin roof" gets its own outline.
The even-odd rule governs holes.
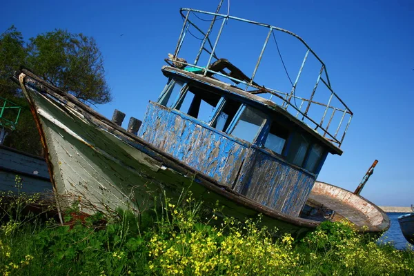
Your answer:
[[[275,26],[270,26],[268,24],[264,24],[264,23],[259,23],[256,21],[250,21],[250,20],[246,20],[246,19],[242,19],[239,17],[233,17],[230,15],[226,15],[226,14],[219,14],[219,10],[221,8],[221,3],[222,1],[219,3],[219,6],[217,8],[216,12],[205,12],[205,11],[201,11],[201,10],[193,10],[193,9],[189,9],[189,8],[181,8],[180,13],[181,13],[181,17],[183,17],[183,27],[181,29],[181,32],[179,34],[179,39],[177,42],[177,47],[175,48],[175,52],[173,55],[172,59],[166,59],[168,61],[173,61],[173,63],[181,63],[183,66],[190,66],[193,68],[198,68],[200,70],[200,72],[202,72],[202,74],[204,74],[204,76],[206,76],[208,73],[216,75],[216,76],[221,76],[224,77],[226,79],[230,79],[231,81],[235,81],[235,83],[243,83],[244,85],[246,85],[246,89],[248,90],[248,88],[255,88],[255,90],[259,90],[259,92],[253,92],[254,94],[260,94],[262,95],[270,95],[270,100],[273,100],[275,103],[279,104],[280,106],[282,106],[282,108],[285,108],[286,110],[288,110],[288,112],[290,112],[292,115],[294,115],[295,117],[297,117],[298,119],[301,119],[302,121],[304,121],[310,128],[313,128],[314,130],[316,130],[317,132],[319,132],[320,135],[322,135],[323,137],[325,137],[328,141],[331,141],[331,143],[336,144],[338,147],[341,146],[342,142],[344,141],[344,137],[346,135],[346,131],[348,130],[349,124],[351,123],[351,119],[353,117],[353,112],[351,112],[351,110],[348,108],[348,106],[346,106],[346,104],[344,103],[344,101],[342,101],[342,99],[340,99],[338,97],[338,95],[334,92],[334,90],[331,87],[331,81],[329,80],[328,77],[328,72],[326,70],[326,65],[325,63],[322,61],[322,59],[320,59],[316,53],[308,46],[308,44],[301,38],[299,37],[297,34],[294,34],[293,32],[290,32],[288,30],[284,30],[282,28],[279,27],[275,27]],[[197,24],[195,23],[195,21],[197,20],[202,20],[197,14],[204,14],[204,16],[210,16],[211,19],[210,20],[204,20],[204,21],[210,21],[210,26],[208,27],[208,29],[204,32],[202,30],[201,27],[197,26]],[[194,15],[194,19],[192,17],[192,15]],[[217,34],[215,35],[215,39],[212,39],[212,30],[213,30],[213,26],[215,25],[216,22],[218,22],[219,20],[221,21],[221,24],[219,26],[219,30],[217,32]],[[267,28],[268,32],[267,35],[264,39],[264,45],[262,48],[262,51],[259,54],[259,57],[257,58],[257,62],[255,64],[254,70],[253,70],[253,75],[250,78],[250,81],[246,81],[246,80],[242,80],[242,79],[236,79],[235,77],[230,77],[229,75],[223,74],[222,72],[215,72],[213,70],[210,70],[210,64],[212,63],[213,58],[214,59],[219,59],[219,57],[217,57],[215,50],[217,49],[217,45],[219,43],[219,39],[221,37],[221,34],[223,33],[223,30],[226,26],[226,22],[230,21],[230,20],[234,20],[234,21],[242,21],[244,23],[248,23],[248,24],[253,24],[255,26],[258,26],[260,28]],[[200,47],[199,50],[197,52],[197,55],[195,57],[195,61],[193,63],[188,63],[187,61],[180,61],[177,60],[177,57],[179,56],[179,52],[183,46],[183,43],[186,39],[186,34],[188,32],[190,32],[190,29],[193,31],[197,31],[199,34],[201,34],[204,38],[201,40],[200,43]],[[292,84],[292,88],[290,89],[290,91],[288,92],[282,92],[279,90],[275,90],[273,88],[268,88],[268,87],[264,87],[264,86],[257,86],[257,84],[255,84],[255,82],[253,81],[257,75],[257,70],[259,68],[259,65],[262,61],[262,57],[264,55],[264,52],[266,50],[266,46],[268,45],[270,36],[274,36],[275,32],[284,32],[290,36],[295,37],[296,39],[298,39],[305,47],[306,47],[306,54],[304,56],[304,59],[302,61],[302,66],[299,68],[299,72],[297,73],[295,82],[292,83],[290,81],[290,83]],[[191,32],[190,32],[191,33]],[[192,34],[192,33],[191,33]],[[194,35],[194,34],[192,34]],[[277,43],[277,41],[275,40],[275,42]],[[277,46],[278,47],[278,46]],[[279,51],[279,48],[277,48],[277,50]],[[201,57],[201,54],[203,52],[207,52],[208,53],[208,61],[206,63],[206,65],[204,66],[199,66],[199,60]],[[280,52],[279,52],[280,55]],[[297,88],[297,84],[299,82],[299,78],[302,75],[302,71],[304,69],[304,66],[306,66],[306,60],[308,59],[308,56],[312,55],[313,57],[315,57],[317,59],[317,61],[320,64],[320,70],[319,70],[319,75],[317,75],[317,80],[315,82],[315,85],[313,86],[313,90],[311,91],[311,95],[310,97],[299,97],[297,95],[295,95],[295,90]],[[282,59],[282,56],[281,56]],[[283,63],[283,59],[282,59],[282,63]],[[284,64],[284,63],[283,63]],[[285,71],[286,71],[286,67],[285,67]],[[287,71],[286,71],[287,74]],[[326,88],[328,88],[328,92],[329,92],[329,98],[328,98],[328,102],[327,103],[321,103],[318,101],[315,101],[315,95],[317,92],[317,88],[318,86],[325,86]],[[272,97],[275,96],[275,99],[278,101],[275,101],[275,99],[273,99]],[[296,105],[296,101],[299,100],[301,101],[299,107]],[[338,106],[333,106],[332,102],[333,100],[335,101],[339,101],[339,105]],[[316,118],[313,117],[311,115],[309,115],[309,110],[311,109],[311,106],[322,106],[324,107],[324,112],[322,117],[320,118]],[[304,109],[304,110],[303,110]],[[328,114],[328,110],[331,113],[331,116],[329,117],[328,123],[326,124],[326,115]],[[339,114],[340,120],[339,120],[339,124],[337,126],[337,128],[335,128],[335,130],[332,131],[332,126],[331,126],[331,122],[333,121],[333,118],[337,118]],[[346,123],[345,123],[346,121]],[[324,125],[325,122],[325,125]],[[345,124],[345,125],[344,125]],[[330,130],[331,128],[331,130]]]

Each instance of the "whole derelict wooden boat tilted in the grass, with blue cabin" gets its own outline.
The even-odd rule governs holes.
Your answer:
[[[210,17],[204,30],[195,24],[200,15]],[[77,201],[86,212],[130,208],[141,213],[163,193],[177,198],[186,190],[210,208],[219,201],[225,215],[245,219],[262,214],[263,224],[295,234],[315,228],[322,219],[300,217],[302,210],[313,188],[325,185],[315,186],[315,179],[328,153],[342,154],[340,146],[353,115],[332,90],[326,66],[288,30],[219,14],[219,8],[181,9],[181,16],[184,26],[177,48],[161,69],[167,84],[159,99],[148,104],[137,135],[29,70],[14,76],[37,122],[59,206]],[[219,19],[219,30],[214,32]],[[251,77],[217,57],[215,50],[228,21],[266,30]],[[190,30],[204,37],[193,63],[180,52]],[[288,92],[254,80],[274,32],[298,39],[306,50]],[[319,69],[306,99],[295,89],[308,56],[315,58]],[[201,61],[206,61],[204,66]],[[318,86],[328,91],[327,103],[316,100]],[[339,107],[333,106],[334,101]],[[309,108],[315,106],[322,107],[319,118],[311,116]],[[327,114],[331,115],[325,120]],[[331,131],[334,121],[338,126]],[[377,233],[388,228],[388,218],[374,204],[357,195],[347,197],[342,189],[344,197],[328,190],[324,195],[337,202],[358,202],[330,208],[354,221],[359,230],[366,226],[368,232]]]

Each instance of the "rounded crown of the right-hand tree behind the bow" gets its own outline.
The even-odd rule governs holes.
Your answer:
[[[102,55],[92,37],[66,30],[39,34],[28,43],[28,66],[83,101],[95,104],[111,99]]]

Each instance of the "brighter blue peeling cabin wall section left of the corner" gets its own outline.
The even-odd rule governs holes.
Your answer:
[[[157,103],[148,105],[138,135],[229,187],[237,179],[248,148],[246,143]]]

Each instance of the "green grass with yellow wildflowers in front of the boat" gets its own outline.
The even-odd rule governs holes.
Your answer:
[[[378,245],[346,222],[275,238],[277,230],[258,227],[260,217],[207,215],[187,197],[139,219],[119,212],[61,226],[18,215],[30,197],[18,198],[3,205],[0,275],[414,275],[412,248]]]

